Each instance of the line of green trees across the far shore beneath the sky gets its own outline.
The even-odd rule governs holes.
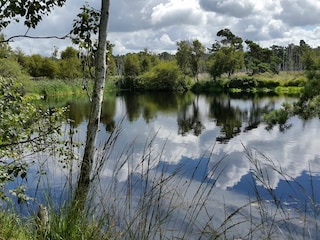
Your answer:
[[[216,40],[209,48],[197,39],[179,41],[175,54],[156,54],[143,49],[137,53],[115,56],[112,53],[114,45],[108,42],[108,74],[123,77],[122,83],[130,86],[133,79],[146,73],[149,76],[144,75],[144,80],[150,75],[156,76],[154,73],[159,70],[157,68],[163,67],[169,72],[179,68],[178,76],[181,78],[198,80],[200,73],[208,73],[212,79],[217,79],[223,74],[230,78],[239,71],[249,75],[264,72],[277,74],[280,71],[312,70],[320,65],[320,48],[312,48],[304,40],[299,45],[272,45],[266,48],[251,40],[243,41],[227,28],[218,31],[217,36],[220,40]],[[1,35],[0,40],[3,39]],[[33,78],[90,78],[94,68],[92,54],[83,48],[69,46],[60,52],[54,47],[50,57],[39,54],[27,56],[21,49],[12,50],[8,43],[2,41],[0,44],[0,59],[17,62]]]

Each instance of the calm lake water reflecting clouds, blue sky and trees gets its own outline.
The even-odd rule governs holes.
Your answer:
[[[117,202],[118,207],[128,204],[128,197],[124,196],[128,196],[126,186],[130,185],[130,193],[135,196],[130,198],[130,206],[137,207],[142,200],[136,196],[142,192],[149,194],[155,189],[151,185],[162,181],[166,190],[161,188],[161,193],[165,192],[166,202],[182,206],[168,223],[173,229],[183,229],[180,235],[184,232],[197,238],[201,224],[206,229],[215,226],[215,231],[234,224],[230,236],[226,236],[234,238],[261,227],[258,222],[267,223],[271,219],[277,225],[274,236],[286,239],[289,232],[297,238],[316,239],[320,210],[320,121],[294,117],[285,130],[279,126],[267,130],[262,122],[264,113],[294,100],[283,96],[192,93],[107,96],[97,143],[97,159],[102,161],[96,163],[99,178],[93,187],[99,203],[110,204],[107,193],[111,185],[112,189],[116,185],[120,189],[114,193],[118,200],[111,202]],[[66,132],[76,130],[73,141],[85,141],[89,114],[86,98],[46,104],[69,106],[68,117],[73,122],[64,126]],[[115,129],[119,133],[116,141],[105,145]],[[80,147],[77,154],[82,151]],[[43,165],[47,172],[45,183],[29,181],[29,193],[42,201],[35,192],[50,186],[52,192],[61,196],[74,184],[77,165],[78,162],[73,162],[70,171],[64,164],[47,161]],[[36,175],[38,168],[34,166],[31,174]],[[120,208],[132,214],[126,210],[128,206]],[[225,223],[235,212],[239,214],[236,220]],[[290,224],[284,219],[290,219]],[[272,223],[266,225],[270,227]],[[257,234],[267,235],[263,228]]]

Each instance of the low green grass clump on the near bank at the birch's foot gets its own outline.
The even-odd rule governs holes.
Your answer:
[[[85,213],[72,212],[69,207],[59,211],[49,209],[49,222],[40,226],[36,216],[22,217],[8,212],[0,212],[0,240],[105,240],[108,231],[101,224]],[[39,227],[40,226],[40,227]]]

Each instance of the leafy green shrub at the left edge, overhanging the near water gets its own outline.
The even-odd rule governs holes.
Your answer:
[[[18,203],[27,201],[25,187],[8,191],[7,183],[26,178],[28,163],[21,161],[26,151],[56,149],[65,109],[43,110],[21,96],[20,85],[0,77],[0,199],[9,192]],[[30,152],[28,152],[30,154]],[[8,159],[14,159],[14,161]]]

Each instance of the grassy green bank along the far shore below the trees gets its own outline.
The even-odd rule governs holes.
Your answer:
[[[109,77],[106,81],[105,91],[120,91],[120,90],[164,90],[166,89],[165,81],[159,81],[159,86],[150,88],[146,83],[142,83],[141,79],[137,78],[139,84],[128,83],[125,79],[119,79],[119,77]],[[130,79],[130,81],[133,81]],[[144,82],[148,82],[144,79]],[[235,74],[232,78],[223,76],[220,79],[212,80],[207,74],[200,75],[199,81],[193,81],[188,78],[188,84],[182,84],[178,81],[179,87],[184,86],[185,89],[191,89],[195,93],[277,93],[277,94],[298,94],[302,91],[306,82],[306,77],[302,72],[280,72],[279,74],[260,74],[255,76],[248,76],[245,73]],[[84,81],[83,79],[37,79],[37,80],[24,80],[23,91],[27,95],[36,95],[42,97],[50,96],[68,96],[68,95],[80,95],[86,94],[89,89],[91,93],[93,81]],[[135,86],[134,88],[132,86]],[[148,86],[147,86],[148,85]],[[123,88],[123,89],[121,89]],[[168,87],[171,91],[171,87]],[[180,88],[177,88],[181,90]]]

